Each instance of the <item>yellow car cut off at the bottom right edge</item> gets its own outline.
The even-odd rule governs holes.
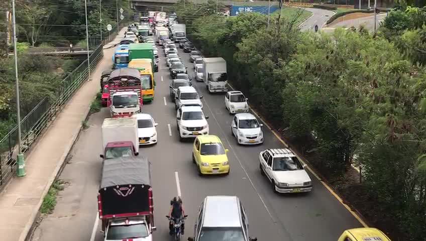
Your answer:
[[[361,227],[345,230],[338,241],[391,241],[377,228]]]

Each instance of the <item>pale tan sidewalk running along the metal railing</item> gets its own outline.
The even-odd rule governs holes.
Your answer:
[[[123,33],[123,34],[122,34]],[[123,38],[124,31],[113,42]],[[52,185],[65,158],[80,133],[90,103],[99,91],[101,72],[111,68],[113,50],[84,83],[25,157],[25,177],[14,178],[0,193],[0,233],[2,241],[24,241],[36,221],[43,198]]]

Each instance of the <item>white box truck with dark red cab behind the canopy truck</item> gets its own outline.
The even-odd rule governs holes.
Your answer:
[[[135,116],[105,118],[102,123],[103,159],[139,154],[138,121]]]

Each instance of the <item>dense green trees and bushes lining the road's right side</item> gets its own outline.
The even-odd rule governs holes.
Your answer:
[[[423,10],[391,12],[372,36],[301,33],[295,18],[283,17],[267,29],[264,15],[225,18],[208,4],[188,5],[176,12],[195,45],[227,60],[232,85],[372,226],[392,240],[424,239]],[[353,164],[362,167],[361,184]]]

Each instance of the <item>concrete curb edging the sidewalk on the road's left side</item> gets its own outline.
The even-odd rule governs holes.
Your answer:
[[[53,182],[58,178],[58,176],[61,174],[62,170],[64,169],[66,163],[65,160],[67,159],[67,157],[69,156],[72,148],[74,147],[74,144],[76,142],[76,140],[78,139],[78,137],[80,136],[81,131],[83,130],[83,124],[82,122],[84,120],[86,120],[89,116],[89,111],[90,111],[90,107],[87,108],[86,112],[84,113],[84,119],[82,119],[82,121],[80,122],[79,128],[77,129],[77,131],[74,133],[74,135],[72,136],[71,141],[69,142],[69,144],[67,145],[67,148],[65,149],[64,154],[62,155],[62,157],[59,159],[59,162],[55,168],[55,171],[53,172],[52,176],[49,178],[49,181],[46,185],[46,188],[43,191],[42,197],[40,198],[39,203],[37,204],[37,208],[33,209],[33,212],[31,213],[31,217],[30,220],[28,220],[27,224],[25,224],[24,230],[21,232],[21,235],[19,237],[19,241],[27,241],[30,240],[33,231],[35,229],[35,227],[37,226],[37,218],[40,216],[40,207],[43,203],[43,199],[46,196],[47,192],[49,191],[50,187],[52,186]]]

